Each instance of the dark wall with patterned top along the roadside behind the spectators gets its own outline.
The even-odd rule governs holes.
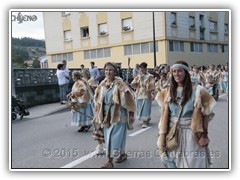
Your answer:
[[[70,72],[79,69],[70,69]],[[100,69],[102,78],[104,71]],[[126,69],[122,69],[123,79],[126,79]],[[70,74],[71,77],[71,74]],[[129,82],[132,81],[130,70]],[[28,107],[46,103],[60,102],[59,86],[56,69],[13,69],[12,95],[20,98]],[[73,85],[70,81],[69,90]]]

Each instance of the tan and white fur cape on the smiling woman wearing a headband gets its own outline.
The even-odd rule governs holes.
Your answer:
[[[203,132],[203,116],[209,116],[209,121],[214,117],[213,107],[215,106],[216,101],[202,86],[198,85],[195,88],[196,92],[191,129],[197,141],[199,134]],[[170,116],[168,108],[171,100],[169,89],[166,88],[159,91],[155,99],[161,107],[161,117],[158,124],[159,138],[157,145],[160,149],[160,152],[162,152],[164,151],[165,144],[165,136],[163,136],[163,134],[166,134],[168,131],[168,122]]]

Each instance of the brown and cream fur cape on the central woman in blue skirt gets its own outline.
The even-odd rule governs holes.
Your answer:
[[[96,112],[94,122],[99,124],[101,124],[103,121],[103,88],[106,85],[106,81],[107,80],[104,79],[98,85],[94,95],[94,109]],[[128,85],[124,83],[121,78],[117,77],[115,77],[113,83],[115,85],[112,94],[113,116],[111,117],[110,124],[114,124],[120,121],[121,107],[125,108],[127,112],[136,111],[134,95]],[[129,116],[127,120],[129,121]]]

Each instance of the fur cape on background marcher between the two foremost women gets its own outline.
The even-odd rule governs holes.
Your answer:
[[[152,91],[155,90],[155,79],[153,77],[152,74],[147,73],[145,76],[147,76],[147,78],[143,81],[143,83],[141,82],[141,75],[137,75],[132,83],[131,86],[136,89],[135,92],[135,97],[140,97],[140,96],[144,96],[147,97],[148,100],[153,100],[152,99]]]

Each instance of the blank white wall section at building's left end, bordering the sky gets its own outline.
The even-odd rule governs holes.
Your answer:
[[[64,50],[64,35],[62,31],[61,12],[43,12],[44,31],[47,52],[59,52]],[[53,36],[54,34],[54,36]]]

